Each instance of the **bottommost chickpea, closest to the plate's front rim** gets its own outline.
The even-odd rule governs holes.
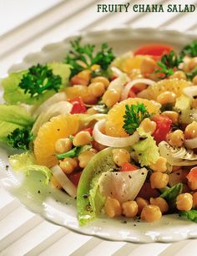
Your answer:
[[[141,212],[141,218],[148,223],[159,221],[161,217],[162,213],[160,211],[160,208],[156,205],[149,204],[145,206]]]

